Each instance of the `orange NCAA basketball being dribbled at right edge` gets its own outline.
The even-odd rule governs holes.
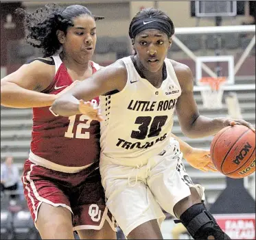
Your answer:
[[[235,124],[219,131],[211,142],[211,159],[217,170],[230,178],[255,172],[255,133]]]

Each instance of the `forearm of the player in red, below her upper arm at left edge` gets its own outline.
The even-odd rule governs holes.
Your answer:
[[[27,90],[15,83],[1,83],[1,105],[5,107],[46,107],[51,106],[55,99],[54,94]]]

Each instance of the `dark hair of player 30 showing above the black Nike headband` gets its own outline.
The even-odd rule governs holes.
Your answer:
[[[163,19],[164,21],[167,21],[171,25],[170,29],[170,36],[174,35],[174,23],[172,22],[171,18],[165,14],[165,12],[156,9],[156,8],[145,8],[138,12],[133,18],[132,21],[130,22],[130,27],[129,27],[129,36],[132,38],[132,32],[131,32],[131,27],[133,23],[144,19],[144,18],[159,18]]]

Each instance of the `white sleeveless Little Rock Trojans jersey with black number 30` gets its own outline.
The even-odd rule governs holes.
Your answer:
[[[167,78],[160,88],[139,76],[132,59],[121,59],[128,79],[121,92],[100,96],[101,161],[121,165],[146,164],[170,142],[173,114],[181,86],[170,59],[165,58]]]

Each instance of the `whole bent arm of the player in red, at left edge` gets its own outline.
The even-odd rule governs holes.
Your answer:
[[[56,96],[41,91],[50,85],[54,74],[53,66],[38,60],[24,64],[1,79],[1,105],[16,108],[51,106]]]

